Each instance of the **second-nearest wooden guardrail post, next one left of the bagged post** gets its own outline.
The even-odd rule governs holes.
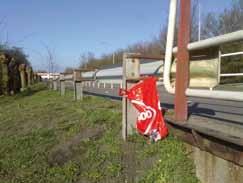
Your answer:
[[[73,71],[74,100],[83,100],[83,83],[81,70]]]

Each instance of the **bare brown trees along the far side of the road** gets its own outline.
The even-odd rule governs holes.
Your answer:
[[[191,42],[199,39],[198,31],[198,7],[199,1],[194,0],[192,5],[192,20],[191,20]],[[178,18],[177,18],[178,20]],[[177,23],[178,25],[178,23]],[[178,26],[176,27],[178,30]],[[232,0],[231,6],[226,8],[221,13],[209,12],[203,14],[201,19],[201,39],[234,32],[243,29],[243,0]],[[176,31],[177,32],[177,31]],[[94,53],[88,52],[80,57],[80,68],[100,69],[115,63],[122,63],[123,52],[138,52],[145,55],[159,57],[165,52],[166,47],[167,26],[164,26],[158,36],[148,42],[138,42],[127,48],[119,49],[114,53],[104,54],[101,58],[97,58]],[[177,34],[175,35],[175,38]],[[176,45],[177,39],[175,39]],[[235,52],[243,50],[243,44],[237,43],[230,46],[222,46],[223,52]],[[234,61],[232,61],[234,60]],[[235,61],[237,60],[237,61]],[[243,72],[243,57],[226,58],[222,64],[222,72]],[[227,80],[227,79],[226,79]],[[242,82],[242,77],[234,78]]]

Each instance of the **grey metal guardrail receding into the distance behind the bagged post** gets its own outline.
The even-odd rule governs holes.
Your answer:
[[[141,57],[141,56],[140,56]],[[146,59],[152,59],[152,57],[143,57]],[[155,58],[153,58],[155,59]],[[157,58],[159,59],[159,58]],[[144,59],[141,60],[140,65],[140,73],[141,75],[162,75],[163,73],[163,60],[153,60],[153,61],[146,61]],[[65,83],[70,84],[75,82],[77,78],[80,78],[80,82],[82,86],[80,87],[95,87],[100,88],[101,86],[106,87],[106,85],[110,85],[111,88],[116,86],[122,87],[122,77],[123,77],[123,68],[122,66],[105,68],[101,70],[95,71],[86,71],[86,70],[74,70],[74,73],[61,73],[60,78],[60,88],[61,88],[61,95],[65,95]],[[53,80],[53,89],[57,90],[58,84],[57,80]],[[161,85],[163,82],[162,77],[158,82],[158,85]],[[69,84],[69,85],[70,85]],[[75,87],[75,85],[73,85]]]

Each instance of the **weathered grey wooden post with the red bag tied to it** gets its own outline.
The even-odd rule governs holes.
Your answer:
[[[123,55],[123,83],[122,88],[127,90],[131,88],[140,78],[140,62],[139,59],[129,58],[130,55]],[[125,96],[122,98],[122,137],[127,139],[128,135],[133,133],[138,112],[127,100]]]

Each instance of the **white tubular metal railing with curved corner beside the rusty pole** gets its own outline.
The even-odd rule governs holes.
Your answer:
[[[177,14],[177,0],[170,1],[170,14],[168,21],[168,34],[167,34],[167,44],[165,53],[165,66],[164,66],[164,83],[165,88],[169,93],[175,94],[175,88],[172,87],[170,81],[170,68],[172,63],[172,55],[178,51],[178,48],[173,48],[174,44],[174,33],[175,33],[175,23]],[[214,46],[220,46],[225,43],[243,40],[243,30],[217,36],[214,38],[209,38],[206,40],[189,43],[187,45],[188,51],[195,51],[199,49],[210,48]],[[212,90],[198,90],[198,89],[186,89],[187,96],[193,97],[204,97],[204,98],[214,98],[223,100],[235,100],[243,101],[242,92],[230,92],[230,91],[212,91]]]

